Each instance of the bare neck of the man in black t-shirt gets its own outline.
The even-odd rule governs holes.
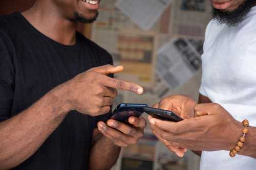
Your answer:
[[[52,1],[36,1],[34,6],[22,15],[39,32],[65,45],[76,43],[76,21],[65,18]]]

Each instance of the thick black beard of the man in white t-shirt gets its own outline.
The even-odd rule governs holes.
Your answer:
[[[251,8],[255,6],[256,0],[245,0],[236,10],[223,11],[216,8],[212,9],[212,17],[219,24],[226,24],[229,27],[237,26],[242,22]]]

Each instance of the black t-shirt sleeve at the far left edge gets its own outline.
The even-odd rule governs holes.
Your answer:
[[[13,101],[14,69],[11,46],[8,36],[0,31],[0,122],[10,118]]]

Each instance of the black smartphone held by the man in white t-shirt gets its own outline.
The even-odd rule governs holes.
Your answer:
[[[180,122],[181,120],[183,120],[183,118],[169,110],[144,107],[144,112],[160,120],[167,120],[171,122]]]

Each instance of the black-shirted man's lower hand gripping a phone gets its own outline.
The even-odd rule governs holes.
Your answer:
[[[119,147],[135,144],[144,134],[146,120],[142,117],[130,117],[126,125],[114,119],[109,119],[106,124],[98,122],[98,130]]]

